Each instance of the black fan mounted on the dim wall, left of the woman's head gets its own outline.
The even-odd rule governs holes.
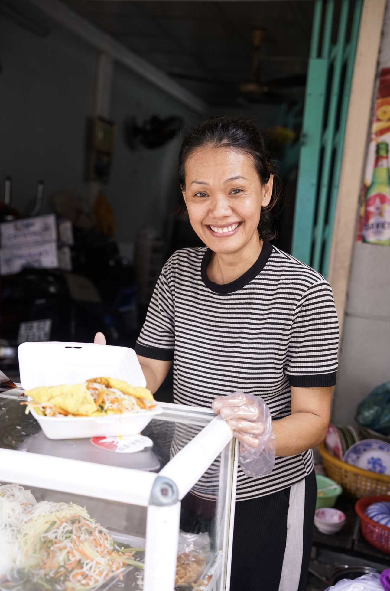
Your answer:
[[[145,148],[160,148],[175,137],[181,125],[183,121],[175,115],[165,119],[153,115],[142,125],[138,125],[135,117],[131,117],[124,128],[126,144],[131,150],[137,148],[138,142]]]

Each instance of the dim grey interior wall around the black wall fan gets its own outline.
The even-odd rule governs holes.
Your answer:
[[[0,16],[0,202],[5,176],[12,176],[15,207],[32,209],[37,180],[45,181],[42,213],[59,190],[87,196],[86,122],[93,115],[98,54],[50,22],[37,37]],[[196,116],[146,80],[115,64],[111,118],[118,124],[110,182],[104,187],[118,223],[116,239],[134,241],[144,223],[163,233],[166,203],[176,189],[178,142],[157,150],[129,150],[123,125],[151,115]]]

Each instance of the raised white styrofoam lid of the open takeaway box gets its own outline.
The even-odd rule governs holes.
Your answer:
[[[81,384],[86,379],[124,379],[145,388],[134,349],[94,343],[22,343],[18,347],[20,381],[26,390],[39,386]]]

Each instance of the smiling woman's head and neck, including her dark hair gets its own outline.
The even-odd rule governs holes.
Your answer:
[[[278,179],[269,173],[262,137],[252,121],[209,119],[184,139],[178,168],[181,210],[212,251],[207,276],[230,283],[252,267],[262,242],[275,237],[270,211]]]

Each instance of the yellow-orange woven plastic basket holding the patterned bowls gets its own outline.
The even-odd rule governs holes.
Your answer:
[[[390,495],[390,476],[369,472],[342,462],[328,452],[324,442],[320,443],[318,449],[327,476],[341,485],[347,495],[355,499],[362,499],[363,496]]]

